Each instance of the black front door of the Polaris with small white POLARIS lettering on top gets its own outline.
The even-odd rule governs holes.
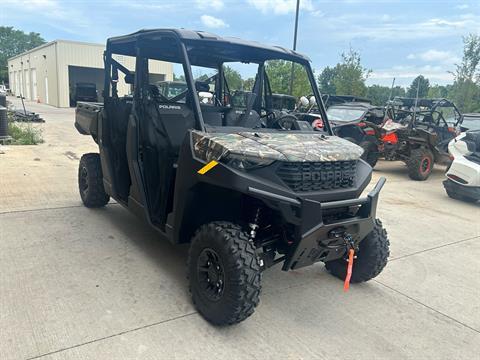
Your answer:
[[[148,59],[137,59],[136,73],[138,96],[131,123],[132,132],[133,127],[138,127],[138,153],[133,136],[129,152],[138,159],[139,187],[143,188],[148,219],[165,231],[173,207],[178,154],[188,129],[194,127],[194,115],[185,100],[170,102],[161,96],[155,83],[150,83]]]

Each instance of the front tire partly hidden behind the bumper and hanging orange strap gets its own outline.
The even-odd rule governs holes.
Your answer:
[[[351,283],[360,283],[373,279],[380,274],[387,265],[390,255],[390,242],[387,231],[379,219],[375,220],[370,232],[359,245],[357,258],[353,262]],[[325,267],[333,276],[344,280],[347,275],[347,261],[340,258],[325,263]]]

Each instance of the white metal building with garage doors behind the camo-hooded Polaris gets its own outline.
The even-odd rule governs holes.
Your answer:
[[[8,60],[11,91],[28,100],[57,107],[72,105],[72,92],[76,83],[96,84],[98,100],[103,101],[104,45],[76,41],[55,40]],[[135,58],[114,56],[129,70],[135,68]],[[156,79],[173,80],[172,64],[153,61],[150,71]],[[130,86],[119,79],[119,94],[128,94]]]

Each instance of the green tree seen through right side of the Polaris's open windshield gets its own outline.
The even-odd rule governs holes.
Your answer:
[[[273,93],[290,94],[290,79],[292,75],[292,63],[285,60],[271,60],[265,65],[270,87]],[[292,95],[300,97],[310,95],[312,87],[305,68],[295,64],[293,70]]]

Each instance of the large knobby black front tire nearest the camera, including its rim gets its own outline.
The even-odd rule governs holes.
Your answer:
[[[193,304],[215,325],[232,325],[253,314],[261,290],[261,266],[255,247],[240,226],[202,225],[188,255]]]

